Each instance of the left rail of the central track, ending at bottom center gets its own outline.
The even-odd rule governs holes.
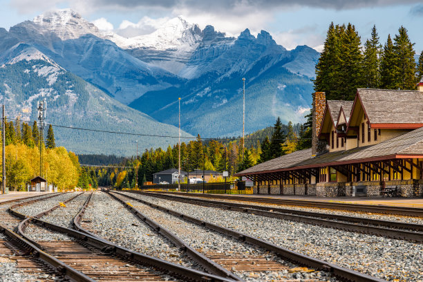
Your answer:
[[[160,225],[159,223],[156,223],[156,221],[152,220],[148,216],[142,214],[142,212],[138,211],[135,207],[132,207],[128,203],[126,203],[124,200],[116,197],[115,195],[111,194],[110,192],[106,192],[110,196],[112,196],[115,200],[118,200],[118,202],[122,203],[129,211],[135,216],[137,216],[142,222],[147,223],[153,231],[158,232],[162,234],[165,238],[167,238],[169,241],[171,241],[173,244],[175,244],[177,247],[182,250],[182,252],[185,252],[187,256],[189,256],[192,260],[196,261],[199,265],[204,267],[209,272],[227,277],[229,279],[234,279],[236,281],[243,281],[240,277],[236,276],[234,273],[230,272],[229,270],[225,269],[218,263],[212,261],[211,259],[207,258],[204,254],[201,254],[197,250],[195,250],[193,247],[185,243],[181,238],[173,234],[169,229],[166,227]]]

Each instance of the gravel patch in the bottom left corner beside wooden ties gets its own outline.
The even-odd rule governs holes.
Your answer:
[[[7,240],[6,236],[0,233],[0,240]],[[27,274],[17,267],[17,261],[14,259],[15,255],[0,254],[0,281],[1,282],[15,282],[15,281],[45,281],[46,279],[55,279],[49,274]]]

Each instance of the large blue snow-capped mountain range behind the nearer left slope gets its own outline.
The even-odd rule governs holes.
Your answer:
[[[208,136],[241,133],[242,77],[247,104],[252,103],[247,131],[269,126],[277,116],[299,122],[311,104],[310,79],[319,58],[308,46],[286,50],[264,30],[227,37],[183,17],[149,35],[124,38],[68,9],[46,12],[9,31],[0,28],[0,60],[15,62],[19,44],[160,122],[177,125],[176,102],[182,97],[182,129]],[[28,55],[39,56],[21,53],[15,60],[25,62],[21,58]]]

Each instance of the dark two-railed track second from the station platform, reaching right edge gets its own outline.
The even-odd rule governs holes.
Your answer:
[[[370,218],[359,218],[355,216],[341,216],[336,214],[322,214],[314,212],[303,212],[294,209],[280,209],[277,207],[265,207],[259,205],[246,205],[240,203],[218,202],[199,198],[186,198],[168,194],[157,194],[150,192],[132,191],[136,194],[167,198],[183,203],[191,203],[205,207],[217,207],[229,209],[236,212],[256,214],[283,220],[293,220],[301,223],[319,225],[341,229],[349,232],[359,232],[383,236],[388,238],[403,239],[407,241],[423,242],[423,225],[412,223],[401,223],[398,221],[375,220]],[[417,230],[417,232],[415,231]]]

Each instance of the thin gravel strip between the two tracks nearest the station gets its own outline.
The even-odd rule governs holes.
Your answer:
[[[186,198],[198,198],[195,196],[184,196]],[[415,223],[415,224],[422,224],[423,225],[423,218],[422,217],[415,217],[415,216],[397,216],[391,214],[374,214],[370,212],[352,212],[352,211],[341,211],[337,209],[322,209],[317,207],[301,207],[301,206],[292,206],[292,205],[276,205],[276,204],[267,204],[267,203],[256,203],[256,202],[247,202],[243,200],[226,200],[226,199],[212,199],[207,198],[207,200],[218,200],[219,202],[226,202],[226,203],[238,203],[238,204],[245,204],[245,205],[260,205],[263,207],[278,207],[280,209],[295,209],[303,212],[319,212],[321,214],[339,214],[342,216],[356,216],[361,218],[370,218],[370,219],[378,219],[378,220],[389,220],[389,221],[400,221],[403,223]]]

